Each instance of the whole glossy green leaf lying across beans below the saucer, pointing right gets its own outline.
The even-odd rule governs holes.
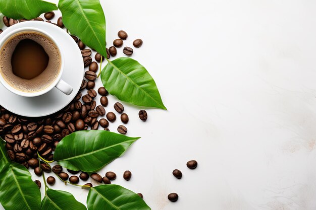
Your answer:
[[[82,130],[67,135],[56,147],[54,160],[74,171],[93,172],[120,157],[139,137],[106,130]]]

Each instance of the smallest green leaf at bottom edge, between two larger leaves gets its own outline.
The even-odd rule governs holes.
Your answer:
[[[42,200],[41,210],[86,210],[86,206],[78,202],[69,192],[47,189]]]

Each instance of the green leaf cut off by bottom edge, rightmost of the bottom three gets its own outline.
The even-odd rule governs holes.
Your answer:
[[[88,210],[150,210],[139,195],[115,184],[90,188],[87,206]]]

